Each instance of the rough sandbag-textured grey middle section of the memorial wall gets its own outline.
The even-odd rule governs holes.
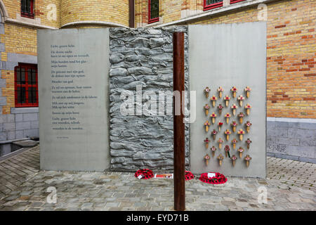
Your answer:
[[[155,115],[149,105],[166,108],[173,91],[173,32],[185,32],[185,89],[188,89],[187,27],[150,29],[110,29],[110,155],[113,170],[173,168],[173,116]],[[121,115],[125,100],[121,93],[133,94],[142,87],[143,115]],[[152,91],[152,94],[147,91]],[[159,99],[159,92],[165,94]],[[147,95],[146,95],[147,94]],[[155,96],[155,98],[154,98]],[[165,103],[164,106],[159,103]],[[132,103],[135,108],[136,103]],[[134,111],[136,112],[136,111]],[[188,125],[186,163],[188,165]]]

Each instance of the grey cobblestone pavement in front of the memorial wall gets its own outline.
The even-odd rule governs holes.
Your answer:
[[[173,180],[138,180],[124,172],[39,172],[39,147],[0,162],[0,168],[0,210],[173,210]],[[315,211],[315,169],[268,158],[267,179],[228,177],[226,184],[214,186],[196,178],[186,181],[186,207]],[[50,187],[56,188],[56,203],[48,201],[53,200],[46,192]],[[260,190],[267,191],[266,203],[258,203]]]

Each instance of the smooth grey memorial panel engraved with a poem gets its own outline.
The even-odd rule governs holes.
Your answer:
[[[110,167],[108,46],[108,29],[38,31],[41,169],[103,171]],[[58,53],[60,51],[63,53]],[[78,77],[82,70],[84,72],[80,75],[84,77]],[[57,72],[65,73],[59,74],[62,77],[52,77]],[[53,93],[52,86],[55,91],[65,91],[67,86],[70,89]],[[52,97],[55,97],[54,101]],[[55,109],[52,108],[53,102],[62,104],[62,107],[67,103],[74,108]],[[53,112],[65,114],[53,115]],[[58,120],[53,120],[53,117]],[[74,118],[73,121],[79,124],[58,124],[67,118]]]

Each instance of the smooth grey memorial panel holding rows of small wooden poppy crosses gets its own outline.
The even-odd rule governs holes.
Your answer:
[[[190,90],[197,91],[197,120],[190,124],[190,169],[194,173],[202,172],[221,172],[229,176],[251,176],[265,177],[266,168],[266,151],[265,151],[265,134],[266,134],[266,23],[236,23],[222,25],[189,25],[189,60],[190,60]],[[210,131],[218,130],[217,126],[212,125],[210,131],[206,134],[204,122],[209,120],[204,113],[204,105],[211,101],[205,98],[204,89],[206,86],[211,88],[209,96],[218,96],[218,86],[225,90],[223,97],[230,96],[229,108],[224,108],[223,113],[219,116],[217,108],[211,108],[209,114],[216,113],[216,124],[218,121],[224,122],[220,133],[213,141]],[[238,102],[233,100],[230,89],[236,86],[237,96],[243,95],[244,88],[250,86],[252,91],[250,98],[246,98],[242,108],[239,106],[236,116],[230,118],[238,122],[237,114],[245,113],[244,105],[251,104],[251,114],[244,117],[242,125],[238,129],[244,129],[244,123],[249,120],[253,125],[249,134],[244,135],[243,141],[237,143],[237,148],[242,146],[244,153],[242,159],[239,158],[237,150],[232,149],[232,139],[238,139],[236,134],[230,135],[230,140],[226,141],[223,131],[230,129],[230,123],[226,124],[224,115],[232,110],[232,103]],[[192,101],[192,100],[191,100]],[[225,105],[223,98],[216,102]],[[281,136],[285,136],[282,134]],[[211,139],[209,147],[216,146],[220,137],[225,142],[222,150],[216,150],[215,157],[209,160],[209,165],[204,162],[204,155],[208,153],[211,156],[211,150],[206,150],[204,139]],[[246,149],[245,140],[252,140],[251,148]],[[238,139],[239,140],[239,139]],[[230,146],[230,155],[236,155],[237,161],[235,167],[232,167],[230,158],[225,158],[225,146]],[[223,165],[220,167],[217,157],[219,154],[224,156]],[[250,155],[252,158],[249,167],[246,167],[244,156]]]

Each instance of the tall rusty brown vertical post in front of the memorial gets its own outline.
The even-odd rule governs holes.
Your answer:
[[[174,210],[185,210],[185,124],[183,123],[184,33],[173,33],[173,91],[180,92],[180,104],[173,97],[173,167],[174,167]],[[180,115],[175,108],[180,105]]]

